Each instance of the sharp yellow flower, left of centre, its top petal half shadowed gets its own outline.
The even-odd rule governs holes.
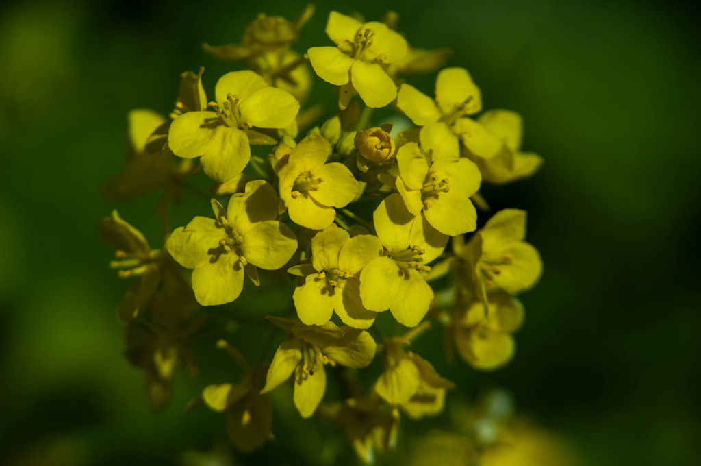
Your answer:
[[[216,219],[195,217],[168,238],[168,252],[194,269],[192,287],[201,305],[231,302],[243,289],[244,270],[257,281],[256,267],[274,270],[297,250],[297,238],[278,222],[278,197],[264,180],[250,181],[225,210],[212,199]]]

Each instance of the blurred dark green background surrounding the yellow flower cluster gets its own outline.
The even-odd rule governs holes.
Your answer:
[[[100,188],[123,164],[130,109],[165,114],[179,73],[205,66],[211,95],[233,69],[203,41],[236,43],[257,13],[294,18],[301,6],[0,7],[0,464],[178,464],[182,451],[224,439],[221,415],[182,406],[207,383],[231,381],[233,364],[200,358],[203,375],[178,375],[174,404],[154,415],[142,373],[121,356],[115,309],[128,283],[107,269],[113,251],[96,223],[118,208],[158,247],[158,196],[108,204]],[[506,387],[585,465],[701,464],[697,13],[681,2],[361,0],[318,5],[297,50],[330,44],[332,7],[370,19],[395,9],[411,44],[453,49],[448,65],[470,70],[487,109],[520,112],[524,149],[545,157],[534,178],[484,190],[494,208],[529,211],[545,262],[522,296],[517,357],[486,374],[437,362],[457,373],[449,397]],[[430,93],[434,79],[411,82]],[[315,81],[330,102],[329,88]],[[205,204],[186,199],[173,225]],[[276,441],[283,458],[240,461],[315,461],[325,427],[297,418],[275,418],[274,432],[299,425]]]

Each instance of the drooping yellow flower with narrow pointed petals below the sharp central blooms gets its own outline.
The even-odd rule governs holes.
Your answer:
[[[294,406],[303,418],[311,417],[324,397],[326,364],[362,368],[374,358],[375,341],[358,328],[339,327],[330,321],[308,326],[292,319],[268,319],[294,338],[278,347],[261,393],[270,392],[294,373]]]

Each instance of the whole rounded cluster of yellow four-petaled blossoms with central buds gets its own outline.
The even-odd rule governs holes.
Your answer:
[[[207,103],[200,69],[182,74],[168,117],[130,113],[128,162],[105,194],[163,192],[165,245],[151,250],[116,211],[100,232],[117,249],[111,267],[135,277],[118,315],[154,407],[168,403],[178,364],[196,372],[189,342],[208,334],[200,306],[235,302],[245,277],[265,286],[259,269],[282,271],[275,286],[285,286],[280,274],[297,283],[288,288],[288,314],[297,319],[266,320],[266,309],[253,310],[271,341],[278,328],[287,339],[272,360],[264,348],[254,366],[235,342],[217,340],[243,376],[205,387],[200,400],[226,413],[231,441],[250,451],[271,438],[268,393],[291,379],[299,414],[343,427],[369,460],[394,444],[400,411],[414,419],[440,413],[454,387],[407,348],[432,322],[446,328],[449,354],[457,349],[474,368],[512,358],[512,333],[523,320],[515,293],[536,283],[541,262],[524,241],[526,213],[505,209],[483,222],[489,208],[478,190],[482,182],[525,178],[541,159],[520,152],[514,112],[474,117],[482,96],[465,69],[438,72],[433,98],[405,83],[404,76],[438,69],[447,52],[411,48],[395,30],[395,14],[365,22],[332,11],[326,32],[335,45],[303,55],[291,46],[312,13],[307,7],[294,21],[263,15],[242,44],[205,45],[250,67],[220,77],[215,101]],[[338,111],[325,121],[306,102],[308,63],[338,93]],[[380,107],[395,117],[374,126]],[[213,218],[196,215],[171,231],[172,202],[183,189],[196,190],[188,178],[200,167],[214,182]],[[229,318],[236,321],[236,312]],[[394,322],[408,329],[386,336],[397,332]],[[327,372],[351,397],[325,400]]]

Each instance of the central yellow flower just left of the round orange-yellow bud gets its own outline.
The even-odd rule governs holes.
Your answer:
[[[297,225],[324,229],[341,208],[358,194],[358,181],[338,162],[326,163],[331,145],[320,135],[308,135],[287,156],[280,168],[280,199]]]

